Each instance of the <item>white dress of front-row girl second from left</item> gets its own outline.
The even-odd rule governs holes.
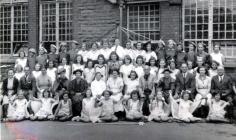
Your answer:
[[[48,117],[52,115],[52,104],[55,101],[52,98],[41,98],[42,106],[39,111],[35,114],[37,117]]]

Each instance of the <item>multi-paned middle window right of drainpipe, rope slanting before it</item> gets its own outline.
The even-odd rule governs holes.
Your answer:
[[[160,11],[158,4],[128,6],[128,38],[134,41],[160,38]]]

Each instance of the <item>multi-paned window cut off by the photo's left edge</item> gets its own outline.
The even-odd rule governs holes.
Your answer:
[[[17,53],[28,42],[28,3],[1,3],[0,54]]]

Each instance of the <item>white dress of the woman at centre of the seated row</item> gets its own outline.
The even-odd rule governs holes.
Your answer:
[[[121,86],[124,86],[124,83],[123,83],[122,78],[120,77],[117,77],[116,79],[114,79],[113,77],[110,77],[107,80],[107,87],[113,92],[113,94],[111,95],[111,99],[117,102],[114,104],[115,112],[124,111],[122,101],[121,101],[121,97],[123,96],[122,92],[120,91]]]

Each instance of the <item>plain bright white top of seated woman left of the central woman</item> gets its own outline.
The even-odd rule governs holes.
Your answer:
[[[103,91],[106,90],[106,83],[103,80],[94,80],[91,83],[91,91],[92,91],[92,95],[93,97],[96,97],[97,95],[102,95]]]

